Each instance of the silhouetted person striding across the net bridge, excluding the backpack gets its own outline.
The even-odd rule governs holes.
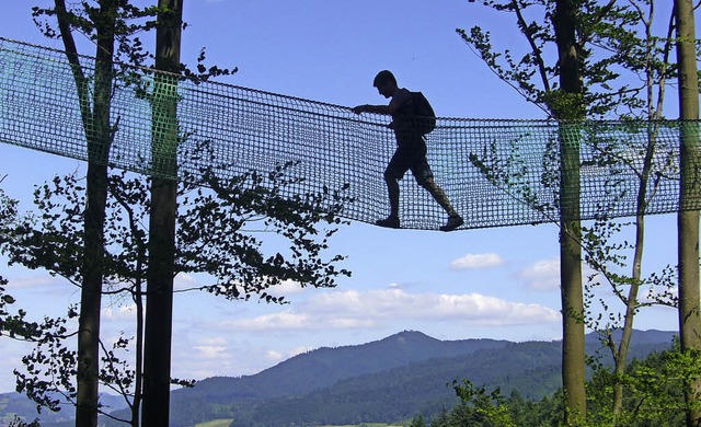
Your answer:
[[[384,182],[390,199],[390,215],[375,223],[380,227],[400,228],[399,219],[399,180],[411,170],[416,183],[426,188],[434,199],[448,214],[448,221],[440,227],[441,231],[451,231],[463,224],[462,218],[456,212],[446,193],[434,181],[426,159],[426,140],[417,125],[417,105],[412,92],[397,84],[397,79],[389,70],[380,71],[372,82],[380,95],[391,99],[388,105],[358,105],[352,108],[355,114],[375,113],[392,116],[389,127],[394,130],[397,151],[384,170]],[[422,95],[423,96],[423,95]]]

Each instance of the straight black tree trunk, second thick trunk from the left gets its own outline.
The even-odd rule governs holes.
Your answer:
[[[159,0],[156,68],[177,72],[182,0]],[[153,176],[149,220],[146,333],[143,344],[143,426],[168,426],[173,323],[175,214],[177,209],[177,80],[157,76],[152,103]]]

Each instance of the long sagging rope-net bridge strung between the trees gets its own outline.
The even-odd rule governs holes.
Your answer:
[[[94,60],[81,58],[92,78]],[[119,68],[124,70],[125,68]],[[134,76],[140,84],[134,84]],[[153,70],[117,72],[111,123],[108,165],[161,177],[171,174],[151,161]],[[91,80],[92,81],[92,80]],[[143,84],[146,82],[147,84]],[[294,193],[346,186],[354,201],[342,216],[374,222],[389,212],[382,177],[395,141],[389,117],[357,116],[348,107],[177,77],[179,173],[217,173],[233,177],[267,173],[292,162]],[[479,101],[478,101],[479,102]],[[694,127],[697,123],[692,123]],[[646,214],[679,210],[679,122],[484,120],[438,118],[428,134],[428,161],[436,182],[463,228],[505,227],[558,220],[561,180],[560,140],[579,150],[581,217],[627,217],[637,209],[637,189],[650,151]],[[0,141],[62,157],[88,160],[76,83],[60,50],[0,38]],[[211,155],[186,155],[207,142]],[[401,182],[403,228],[436,230],[446,214],[411,177]],[[685,206],[686,208],[686,206]],[[701,208],[701,199],[689,209]]]

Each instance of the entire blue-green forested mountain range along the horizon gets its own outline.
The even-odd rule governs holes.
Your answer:
[[[636,331],[631,358],[669,348],[673,336]],[[588,335],[587,351],[599,347]],[[218,418],[233,418],[235,427],[355,425],[430,416],[457,403],[448,386],[456,379],[505,393],[516,389],[537,400],[560,388],[561,351],[560,342],[439,341],[404,331],[363,345],[319,348],[254,376],[215,377],[174,391],[171,426]],[[11,406],[0,411],[0,419]],[[46,422],[42,425],[60,425]]]

